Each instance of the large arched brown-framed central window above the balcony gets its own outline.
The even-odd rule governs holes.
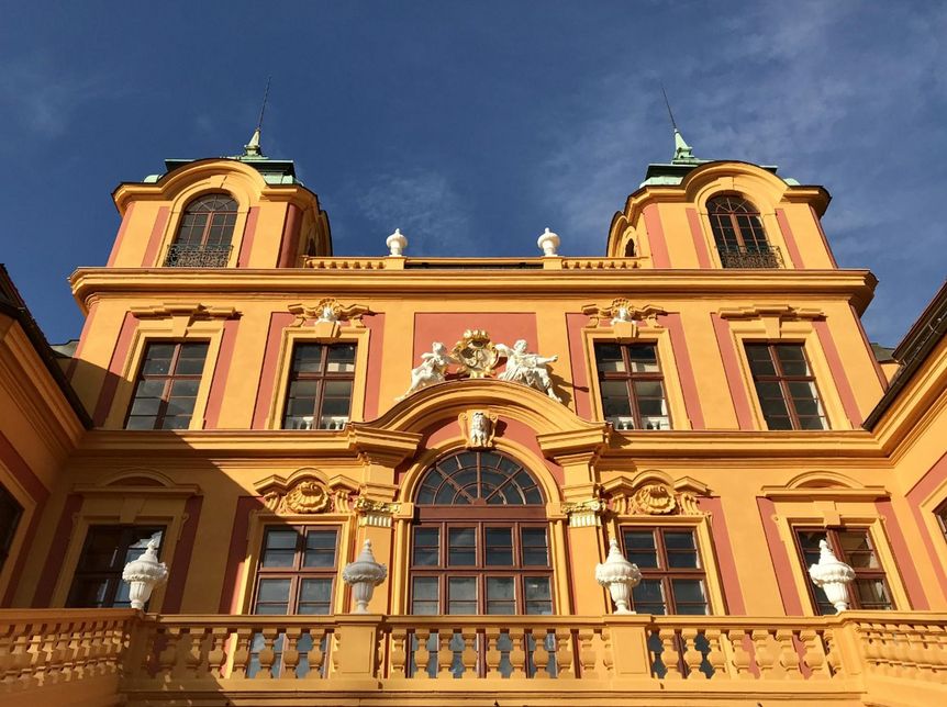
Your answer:
[[[465,451],[428,469],[415,495],[412,614],[552,614],[543,492],[517,461]]]

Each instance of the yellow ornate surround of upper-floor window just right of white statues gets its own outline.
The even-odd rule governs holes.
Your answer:
[[[616,314],[616,303],[624,300],[614,300],[609,307],[586,307],[586,313],[592,313],[592,322],[582,328],[582,350],[584,355],[586,370],[589,372],[589,396],[591,397],[592,416],[595,420],[605,419],[602,408],[602,389],[599,384],[599,368],[595,362],[595,344],[654,344],[657,348],[658,364],[660,366],[661,379],[665,384],[665,396],[668,413],[671,419],[671,430],[690,429],[690,416],[684,403],[683,388],[678,371],[678,361],[675,358],[673,345],[670,330],[658,323],[657,317],[664,314],[664,310],[653,305],[636,308],[639,319],[609,323],[608,316]],[[592,308],[597,310],[592,312]],[[604,323],[603,323],[603,319]],[[628,430],[647,431],[654,434],[656,430]]]

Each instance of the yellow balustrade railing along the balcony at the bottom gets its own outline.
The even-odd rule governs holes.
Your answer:
[[[0,704],[33,689],[47,702],[32,704],[60,704],[47,687],[97,676],[130,704],[353,689],[376,700],[393,691],[392,704],[432,689],[592,699],[630,685],[724,702],[761,689],[780,699],[947,704],[947,618],[0,611]]]

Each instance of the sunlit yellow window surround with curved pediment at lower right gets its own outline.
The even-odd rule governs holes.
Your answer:
[[[823,484],[831,484],[826,487]],[[891,549],[891,539],[884,527],[877,501],[890,498],[881,486],[858,486],[838,474],[807,472],[790,481],[787,486],[764,486],[762,497],[773,504],[773,517],[779,540],[789,557],[794,588],[804,616],[820,616],[810,591],[809,568],[795,539],[796,528],[859,528],[868,531],[878,561],[884,570],[891,591],[892,610],[907,610],[911,601],[904,586],[900,565]],[[764,523],[767,519],[764,518]]]

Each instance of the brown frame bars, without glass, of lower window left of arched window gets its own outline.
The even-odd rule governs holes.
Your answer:
[[[296,548],[293,551],[293,563],[291,566],[264,566],[265,553],[267,549],[267,536],[271,530],[293,530],[296,531]],[[335,551],[333,553],[332,566],[304,566],[305,559],[305,542],[310,532],[328,532],[335,534]],[[267,524],[264,526],[260,537],[260,551],[257,557],[256,575],[254,579],[254,590],[250,599],[250,613],[258,616],[294,616],[299,615],[300,590],[304,580],[330,580],[332,590],[328,598],[328,611],[325,614],[307,613],[305,616],[326,616],[334,613],[337,575],[338,575],[338,538],[342,534],[342,527],[337,525],[317,525],[317,524],[299,524],[299,525],[279,525]],[[289,580],[289,593],[287,595],[287,611],[286,614],[260,614],[259,593],[261,580]],[[267,602],[267,604],[278,604],[276,602]]]

